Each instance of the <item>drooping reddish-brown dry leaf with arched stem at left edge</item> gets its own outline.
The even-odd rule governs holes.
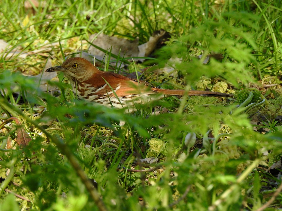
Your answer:
[[[17,125],[17,143],[19,146],[27,146],[28,143],[31,141],[30,136],[27,134],[21,123],[16,117],[11,117],[5,120],[1,125],[0,128],[2,128],[5,124],[11,121],[15,121]]]

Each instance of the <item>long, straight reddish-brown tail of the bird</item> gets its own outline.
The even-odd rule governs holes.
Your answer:
[[[158,89],[159,93],[164,95],[189,95],[189,96],[207,96],[207,97],[233,97],[232,94],[221,93],[221,92],[211,92],[211,91],[199,91],[199,90],[189,90],[186,92],[181,89]]]

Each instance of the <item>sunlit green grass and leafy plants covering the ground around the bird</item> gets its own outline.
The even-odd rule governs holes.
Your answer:
[[[32,138],[19,147],[14,123],[1,133],[0,210],[281,208],[279,192],[271,201],[280,181],[266,172],[282,153],[281,123],[274,120],[282,115],[280,1],[46,0],[34,13],[19,0],[0,5],[6,52],[42,50],[12,59],[0,52],[1,120],[16,117]],[[115,70],[157,63],[157,74],[151,68],[141,78],[154,86],[259,89],[268,100],[255,114],[262,118],[259,132],[249,117],[259,109],[244,113],[236,100],[169,97],[126,114],[76,100],[62,74],[50,82],[59,87],[57,96],[22,75],[41,73],[48,58],[61,64],[86,49],[93,33],[143,44],[161,28],[171,39],[154,58]],[[167,66],[173,73],[162,72]],[[100,69],[110,70],[109,63]],[[150,115],[156,104],[170,112]],[[157,163],[141,162],[153,155]]]

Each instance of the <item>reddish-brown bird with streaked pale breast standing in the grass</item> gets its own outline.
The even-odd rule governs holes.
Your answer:
[[[52,67],[46,72],[62,71],[69,79],[73,92],[79,99],[100,103],[107,107],[127,108],[134,112],[136,104],[159,100],[172,95],[198,95],[232,97],[232,94],[211,91],[185,91],[160,89],[151,84],[128,78],[113,72],[100,71],[88,60],[75,57],[65,60],[61,66]]]

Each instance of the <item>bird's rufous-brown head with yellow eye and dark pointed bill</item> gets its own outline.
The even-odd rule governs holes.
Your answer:
[[[88,60],[74,57],[65,60],[62,65],[52,67],[46,70],[46,72],[61,71],[69,80],[87,80],[92,75],[99,71]]]

